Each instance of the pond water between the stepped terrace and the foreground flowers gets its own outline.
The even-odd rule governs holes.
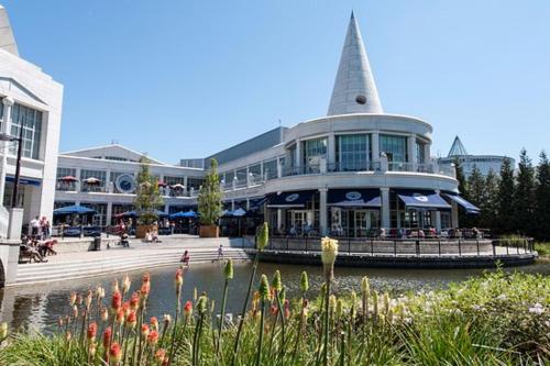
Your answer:
[[[246,291],[251,271],[250,263],[235,264],[234,279],[231,281],[228,311],[238,312],[242,307],[243,296]],[[151,273],[151,295],[147,302],[147,314],[150,317],[162,317],[164,313],[173,312],[175,309],[174,271],[176,267],[156,268]],[[279,269],[283,280],[290,295],[297,293],[299,276],[307,270],[312,288],[311,295],[316,293],[318,285],[322,281],[320,267],[294,266],[278,264],[261,264],[261,274],[272,276],[275,269]],[[528,273],[540,273],[550,275],[550,264],[537,264],[516,268]],[[508,270],[516,270],[510,268]],[[470,276],[479,276],[481,269],[382,269],[382,268],[336,268],[336,291],[355,289],[359,291],[360,279],[363,276],[371,278],[372,287],[378,291],[389,291],[394,295],[407,291],[418,291],[442,288],[451,281],[461,281]],[[130,274],[132,290],[138,290],[141,284],[142,271]],[[198,292],[206,291],[217,306],[220,303],[223,290],[221,264],[194,265],[185,274],[183,300],[191,299],[194,288]],[[122,275],[117,275],[121,278]],[[110,297],[112,276],[96,277],[91,279],[65,280],[54,284],[26,286],[19,288],[0,289],[0,320],[7,321],[11,328],[32,326],[41,330],[53,330],[61,315],[69,312],[68,297],[72,291],[85,292],[101,285]]]

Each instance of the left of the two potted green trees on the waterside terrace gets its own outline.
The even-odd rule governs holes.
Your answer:
[[[158,220],[155,210],[163,206],[164,201],[158,191],[158,180],[151,175],[150,160],[145,156],[140,158],[140,173],[138,174],[136,185],[134,207],[139,215],[138,222],[150,225]]]

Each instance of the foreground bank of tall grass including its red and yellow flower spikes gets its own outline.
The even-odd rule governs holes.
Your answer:
[[[361,297],[355,292],[337,297],[330,292],[332,273],[329,260],[327,264],[323,290],[311,301],[307,298],[307,274],[301,277],[300,296],[295,299],[285,298],[278,274],[271,286],[262,276],[261,284],[254,286],[258,290],[252,293],[240,332],[239,320],[222,318],[217,322],[213,302],[206,293],[195,302],[187,301],[182,309],[180,276],[185,271],[179,269],[175,279],[176,313],[165,318],[162,325],[156,318],[147,321],[142,290],[148,295],[150,286],[154,286],[148,276],[144,276],[144,282],[150,285],[142,285],[128,299],[123,296],[120,303],[118,299],[98,297],[90,302],[87,296],[80,297],[84,301],[75,297],[68,301],[67,315],[53,335],[24,331],[10,334],[1,345],[0,365],[550,363],[549,277],[496,271],[446,290],[400,298],[378,295],[365,278],[356,284]],[[232,271],[226,269],[220,273],[224,292],[231,288],[232,278]],[[132,293],[130,289],[124,292]],[[101,314],[106,308],[111,308],[110,318],[90,315]],[[193,308],[197,309],[195,313]],[[136,320],[130,317],[133,311]],[[123,313],[124,323],[117,312]],[[98,322],[99,333],[109,328],[112,334],[96,337],[95,332],[90,333],[94,322]],[[134,322],[141,326],[134,326]],[[238,332],[239,352],[234,354]]]

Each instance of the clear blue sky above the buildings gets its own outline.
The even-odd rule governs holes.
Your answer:
[[[386,112],[471,154],[550,149],[550,1],[0,0],[65,86],[62,151],[204,157],[327,113],[350,12]]]

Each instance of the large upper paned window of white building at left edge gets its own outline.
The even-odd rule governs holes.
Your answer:
[[[19,136],[21,126],[23,126],[22,155],[24,157],[38,159],[40,137],[42,132],[42,112],[15,103],[13,104],[11,113],[11,135]],[[10,153],[16,154],[16,144],[11,144]]]

